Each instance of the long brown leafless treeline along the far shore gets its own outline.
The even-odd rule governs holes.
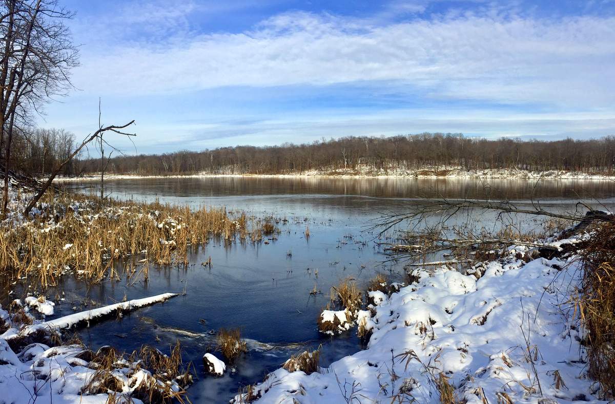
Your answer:
[[[106,162],[105,162],[106,163]],[[79,171],[100,170],[100,159],[81,160]],[[615,137],[536,141],[468,138],[461,134],[423,133],[392,137],[355,137],[280,146],[236,146],[162,155],[118,156],[107,173],[290,174],[335,169],[421,169],[461,167],[471,170],[517,168],[585,173],[615,171]],[[73,168],[73,172],[76,168]]]

